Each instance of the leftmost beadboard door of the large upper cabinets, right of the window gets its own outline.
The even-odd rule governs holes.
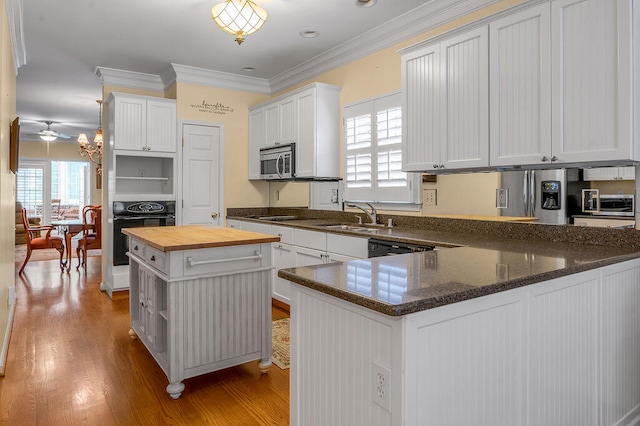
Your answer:
[[[444,117],[440,96],[440,45],[402,58],[402,170],[440,167]]]

